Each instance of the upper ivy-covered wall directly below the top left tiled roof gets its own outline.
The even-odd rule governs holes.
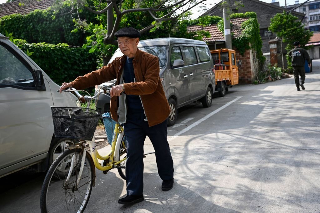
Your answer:
[[[0,33],[24,39],[28,43],[67,43],[81,46],[86,34],[82,31],[71,33],[75,28],[70,15],[56,15],[51,10],[35,10],[26,15],[12,14],[0,18]]]

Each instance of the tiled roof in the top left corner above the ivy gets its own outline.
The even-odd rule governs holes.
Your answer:
[[[14,13],[27,14],[36,9],[44,10],[50,7],[54,1],[55,0],[16,0],[0,4],[0,17]]]

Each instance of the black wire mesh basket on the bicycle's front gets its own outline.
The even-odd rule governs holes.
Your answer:
[[[51,107],[54,136],[92,140],[101,117],[97,110],[80,107]]]

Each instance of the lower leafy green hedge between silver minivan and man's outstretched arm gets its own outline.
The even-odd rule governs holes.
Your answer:
[[[25,53],[33,52],[29,57],[58,85],[73,81],[97,67],[96,56],[81,47],[70,48],[67,44],[29,44],[21,39],[13,39],[13,43]]]

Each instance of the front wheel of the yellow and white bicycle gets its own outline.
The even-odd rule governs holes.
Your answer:
[[[90,163],[91,156],[87,153],[79,184],[76,184],[82,155],[81,149],[67,150],[52,163],[41,189],[42,213],[82,213],[84,211],[92,190],[94,167]],[[74,161],[73,168],[71,168],[72,161]],[[69,172],[70,177],[67,182]]]

